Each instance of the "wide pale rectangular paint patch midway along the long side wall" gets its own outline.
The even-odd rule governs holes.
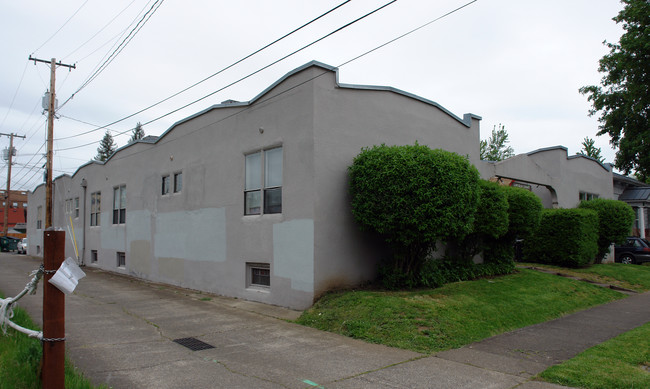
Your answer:
[[[203,208],[160,213],[154,241],[156,257],[225,262],[226,211]]]

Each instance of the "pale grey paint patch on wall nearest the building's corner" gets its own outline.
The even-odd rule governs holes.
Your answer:
[[[314,221],[273,225],[273,275],[291,280],[291,288],[314,290]]]

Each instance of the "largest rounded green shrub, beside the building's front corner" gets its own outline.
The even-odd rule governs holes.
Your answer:
[[[373,146],[348,172],[354,219],[393,248],[388,272],[414,280],[436,241],[472,231],[479,174],[465,157],[417,143]]]

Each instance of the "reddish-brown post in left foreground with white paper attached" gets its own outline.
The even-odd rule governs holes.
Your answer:
[[[43,232],[43,389],[64,389],[65,294],[48,281],[65,257],[65,232]]]

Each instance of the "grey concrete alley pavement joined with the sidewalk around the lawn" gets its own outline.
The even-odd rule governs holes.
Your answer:
[[[0,254],[0,290],[18,293],[39,263]],[[113,388],[558,388],[529,379],[650,321],[645,293],[427,356],[289,323],[299,312],[284,308],[84,271],[66,297],[66,346],[87,377]],[[20,306],[40,322],[40,293]]]

